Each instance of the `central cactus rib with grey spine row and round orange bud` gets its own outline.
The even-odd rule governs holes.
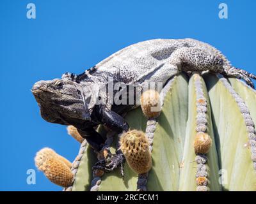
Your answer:
[[[207,89],[205,87],[204,80],[202,76],[197,73],[193,73],[189,79],[189,116],[186,127],[186,141],[184,145],[183,158],[184,167],[180,170],[180,184],[179,191],[220,191],[221,186],[218,183],[218,154],[216,151],[215,138],[212,128],[212,114],[211,106],[209,105],[209,98],[207,96]],[[209,149],[211,142],[207,142],[205,149],[204,142],[205,138],[210,136],[212,140],[212,147]],[[195,148],[196,136],[200,136],[202,141],[198,140]],[[208,140],[208,139],[207,139]],[[200,148],[199,148],[200,147]],[[202,149],[204,147],[204,153],[207,152],[207,157],[205,154],[197,154],[195,149]],[[206,151],[207,150],[207,151]],[[202,153],[202,152],[200,152]],[[193,165],[196,162],[196,166]],[[194,175],[194,177],[191,177]],[[198,187],[196,183],[196,178],[207,177],[207,186]]]

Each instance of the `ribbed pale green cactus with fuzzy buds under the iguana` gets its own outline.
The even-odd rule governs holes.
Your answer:
[[[125,116],[127,135],[112,137],[98,128],[111,152],[121,141],[127,157],[124,180],[118,170],[93,171],[97,155],[84,140],[71,167],[74,182],[64,191],[255,191],[256,92],[235,78],[182,73],[161,94],[159,117],[145,117],[141,108]],[[136,157],[140,161],[134,165],[132,147],[139,142],[147,162]],[[150,170],[138,171],[143,168]]]

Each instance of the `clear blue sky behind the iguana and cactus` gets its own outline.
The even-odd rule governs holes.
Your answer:
[[[124,3],[126,2],[126,3]],[[26,18],[35,3],[36,19]],[[218,18],[227,3],[228,19]],[[256,73],[256,1],[0,1],[0,190],[60,191],[42,172],[26,171],[42,147],[72,161],[79,144],[64,126],[45,122],[33,95],[38,80],[81,73],[113,52],[153,38],[211,43],[234,66]]]

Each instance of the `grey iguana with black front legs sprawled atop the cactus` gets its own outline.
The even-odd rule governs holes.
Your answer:
[[[193,39],[156,39],[125,47],[80,75],[65,73],[61,79],[36,82],[32,92],[45,120],[75,126],[99,152],[105,138],[95,131],[95,127],[104,124],[117,133],[128,131],[129,125],[121,115],[135,107],[116,104],[109,98],[108,89],[100,92],[102,88],[110,82],[113,85],[120,82],[126,85],[135,82],[139,85],[145,82],[165,84],[181,71],[212,71],[243,79],[253,88],[250,78],[256,79],[255,75],[234,68],[219,50],[207,43]],[[105,103],[98,104],[95,99]],[[99,161],[93,168],[113,171],[120,166],[123,170],[125,158],[120,150],[110,158],[110,161]]]

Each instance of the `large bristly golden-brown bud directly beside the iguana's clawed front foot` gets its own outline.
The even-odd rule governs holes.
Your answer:
[[[138,130],[124,133],[120,138],[120,150],[133,171],[140,174],[150,170],[152,159],[145,133]]]

